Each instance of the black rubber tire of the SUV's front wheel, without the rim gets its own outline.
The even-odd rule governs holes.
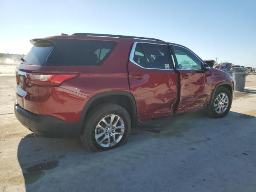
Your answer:
[[[223,113],[219,114],[215,110],[214,102],[216,100],[216,97],[219,94],[222,94],[222,93],[224,93],[224,94],[226,94],[228,96],[228,108],[226,109],[226,111],[224,111]],[[232,104],[232,95],[231,95],[230,91],[227,88],[225,88],[225,87],[219,87],[219,88],[217,88],[217,90],[216,90],[216,92],[214,94],[212,103],[207,108],[207,112],[213,118],[222,118],[222,117],[224,117],[224,116],[226,116],[228,114],[228,112],[229,112],[229,110],[231,108],[231,104]]]

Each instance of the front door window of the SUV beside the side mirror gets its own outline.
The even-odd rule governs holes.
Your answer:
[[[179,46],[172,46],[172,48],[180,69],[202,69],[201,61],[192,52]]]

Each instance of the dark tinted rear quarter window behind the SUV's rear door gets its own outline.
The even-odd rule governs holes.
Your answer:
[[[57,40],[46,65],[99,66],[115,48],[116,42]]]

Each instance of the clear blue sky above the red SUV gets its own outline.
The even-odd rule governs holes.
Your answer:
[[[75,32],[159,38],[202,59],[256,67],[256,0],[1,0],[0,52]]]

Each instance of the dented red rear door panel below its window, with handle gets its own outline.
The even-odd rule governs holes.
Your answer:
[[[134,95],[140,120],[174,113],[178,96],[178,74],[174,70],[144,69],[128,64],[130,90]],[[144,78],[133,78],[144,76]]]

